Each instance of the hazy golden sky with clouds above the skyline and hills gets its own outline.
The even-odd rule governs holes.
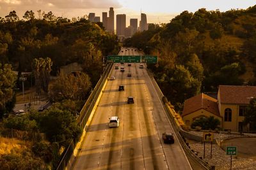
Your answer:
[[[5,17],[15,10],[20,19],[27,10],[35,12],[52,11],[57,17],[83,17],[90,12],[102,20],[102,11],[113,7],[116,14],[126,14],[127,24],[130,18],[138,18],[140,13],[147,14],[148,23],[168,23],[182,11],[195,12],[206,10],[227,11],[247,9],[254,6],[256,0],[0,0],[0,17]],[[128,26],[127,25],[127,26]]]

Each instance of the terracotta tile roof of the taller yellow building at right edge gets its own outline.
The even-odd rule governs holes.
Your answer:
[[[256,97],[256,86],[220,85],[220,103],[249,104]]]

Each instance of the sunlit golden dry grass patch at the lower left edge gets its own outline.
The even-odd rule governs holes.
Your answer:
[[[18,139],[10,139],[0,137],[0,155],[9,153],[20,153],[30,145],[29,142],[21,141]]]

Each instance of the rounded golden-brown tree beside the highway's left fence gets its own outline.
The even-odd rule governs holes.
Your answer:
[[[53,101],[71,99],[80,101],[86,98],[92,83],[85,73],[63,75],[61,74],[50,88],[50,98]]]

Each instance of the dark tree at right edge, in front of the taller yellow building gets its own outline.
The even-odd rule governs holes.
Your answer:
[[[250,125],[250,131],[256,131],[256,98],[250,100],[250,105],[246,107],[244,123]]]

